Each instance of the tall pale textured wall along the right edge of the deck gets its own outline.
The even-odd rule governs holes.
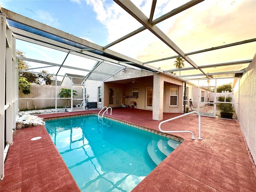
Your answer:
[[[237,86],[235,86],[237,88]],[[256,55],[240,79],[238,119],[254,162],[256,161]],[[237,95],[238,90],[235,90]]]

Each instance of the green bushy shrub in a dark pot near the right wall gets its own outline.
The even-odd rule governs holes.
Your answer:
[[[224,100],[225,98],[222,96],[218,98],[218,101],[220,102],[224,102]],[[230,101],[231,101],[231,97],[226,97],[226,102],[230,102]],[[220,110],[221,118],[232,119],[234,108],[232,107],[231,103],[218,103],[217,107]]]

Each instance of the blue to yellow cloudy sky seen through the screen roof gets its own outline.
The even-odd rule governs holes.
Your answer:
[[[153,20],[188,1],[158,0]],[[152,0],[132,2],[149,17]],[[0,0],[0,5],[100,46],[142,26],[112,0]],[[255,18],[256,0],[205,0],[156,26],[187,53],[255,38]],[[26,50],[27,57],[38,54],[38,59],[49,62],[60,63],[65,57],[63,53],[44,52],[47,48],[23,41],[18,42],[17,47]],[[141,62],[177,55],[148,30],[109,49]],[[189,57],[201,66],[252,59],[255,50],[256,43],[253,42]],[[173,69],[173,62],[174,59],[154,62],[152,66],[162,70]],[[90,61],[88,67],[93,65],[94,62]],[[190,64],[185,62],[185,67],[190,67]]]

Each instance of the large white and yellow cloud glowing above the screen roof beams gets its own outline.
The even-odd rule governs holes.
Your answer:
[[[132,2],[146,16],[149,16],[151,1],[132,0]],[[154,18],[170,12],[186,2],[188,1],[157,1]],[[97,19],[106,26],[108,42],[113,42],[142,26],[115,3],[95,0],[88,0],[87,3],[93,7]],[[253,10],[255,5],[255,1],[247,0],[204,1],[160,22],[157,26],[185,53],[211,48],[255,38],[256,22],[255,14],[252,14],[252,12],[255,13],[255,9]],[[250,45],[252,50],[253,47],[254,45]],[[148,30],[111,46],[109,49],[142,62],[177,55]],[[212,56],[209,56],[209,52],[207,52],[193,55],[191,58],[195,59],[198,65],[210,64],[204,62],[209,60],[211,63],[227,62],[242,58],[241,54],[248,56],[248,53],[245,54],[245,50],[248,52],[246,48],[240,52],[237,48],[230,50],[226,48],[224,51],[212,52]],[[232,51],[238,53],[233,54]],[[170,60],[166,60],[158,64],[152,63],[152,65],[174,68],[173,62],[171,64],[170,62]]]

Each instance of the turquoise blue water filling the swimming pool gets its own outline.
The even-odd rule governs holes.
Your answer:
[[[82,192],[131,191],[166,157],[157,146],[173,150],[168,138],[97,116],[48,120],[45,127]]]

